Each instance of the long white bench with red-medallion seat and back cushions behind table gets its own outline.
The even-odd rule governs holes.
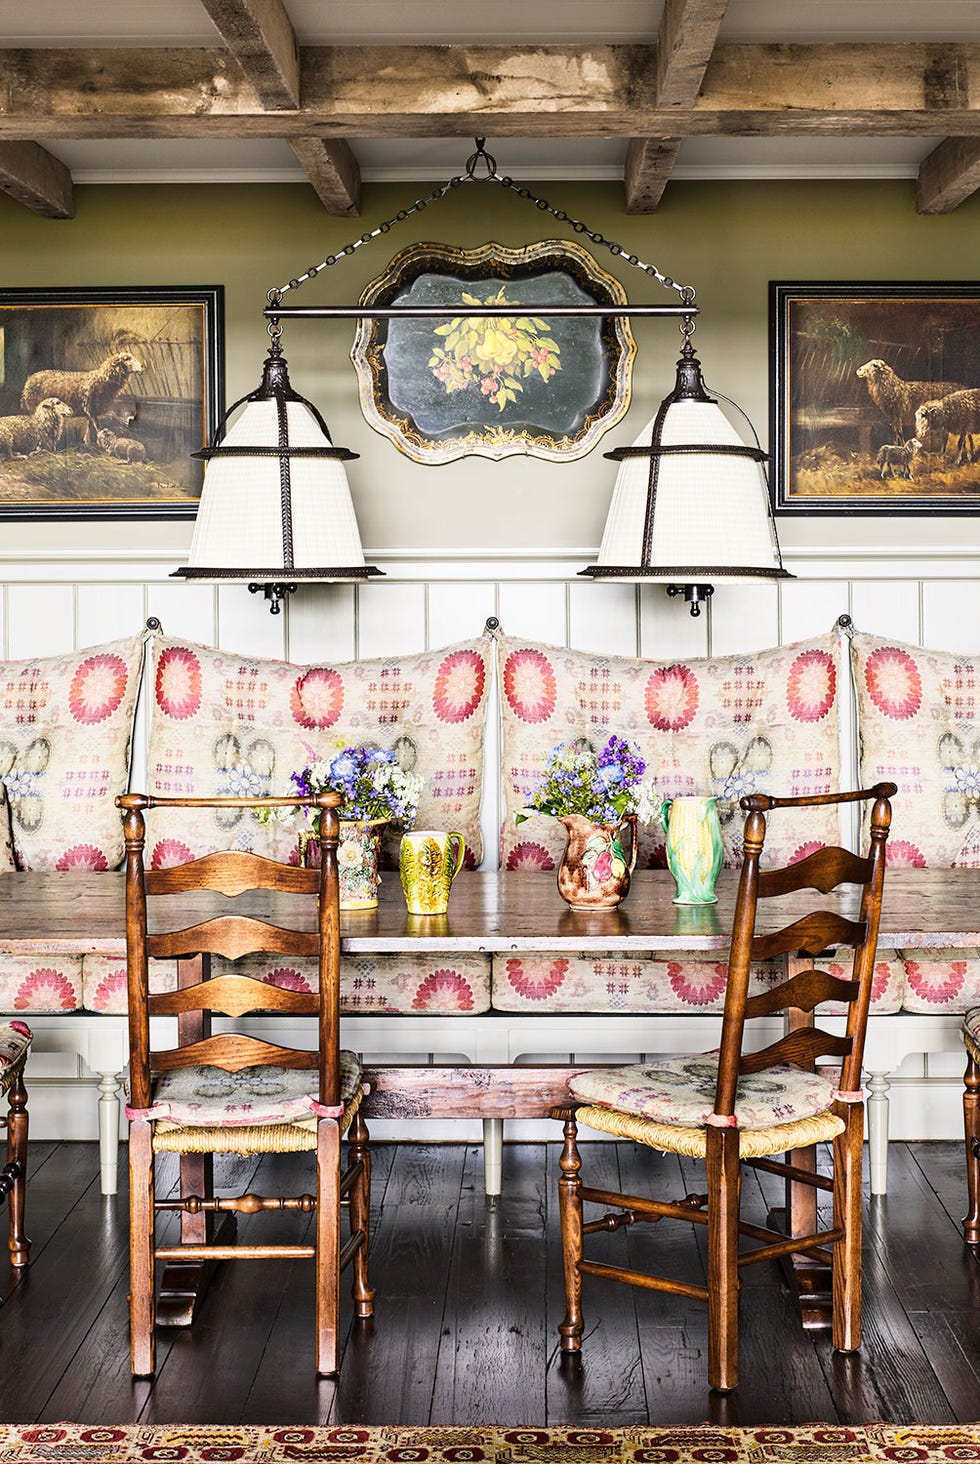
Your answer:
[[[483,635],[444,650],[296,666],[168,638],[154,627],[108,646],[10,662],[0,666],[10,862],[29,870],[119,864],[113,798],[127,783],[144,706],[146,780],[160,793],[277,792],[325,748],[396,747],[423,774],[419,823],[459,829],[470,867],[483,862],[483,780],[500,776],[502,867],[554,868],[564,837],[557,821],[536,817],[517,826],[513,815],[558,741],[601,744],[614,732],[640,744],[665,796],[718,795],[731,864],[740,854],[741,793],[825,792],[880,779],[899,786],[892,864],[980,864],[971,751],[980,668],[970,657],[847,630],[738,656],[652,662],[514,640],[488,624]],[[841,716],[850,675],[860,732],[854,763],[842,755],[842,745],[854,745]],[[500,716],[500,769],[483,767],[488,716]],[[853,834],[826,824],[820,811],[807,827],[773,821],[771,856],[781,862]],[[292,839],[281,826],[261,829],[239,817],[215,827],[202,815],[180,826],[158,820],[148,849],[158,864],[218,843],[289,858]],[[388,868],[394,854],[393,839]],[[662,862],[661,832],[647,827],[640,865]],[[281,962],[264,974],[292,984],[309,979]],[[705,1019],[718,1019],[724,975],[724,962],[659,959],[656,952],[472,952],[453,959],[360,952],[343,963],[344,1041],[372,1056],[459,1054],[475,1064],[527,1054],[626,1058],[636,1053],[636,1017],[650,1016],[658,1051],[705,1047],[713,1031]],[[905,1054],[958,1050],[959,1017],[976,1004],[976,950],[879,952],[867,1042],[876,1189],[883,1187],[888,1075]],[[126,1061],[122,962],[44,952],[0,956],[0,1010],[35,1022],[40,1051],[45,1044],[75,1051],[100,1075],[110,1187]]]

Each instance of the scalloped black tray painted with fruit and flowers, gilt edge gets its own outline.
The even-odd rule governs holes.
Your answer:
[[[467,302],[514,310],[472,319]],[[624,316],[549,319],[546,306],[626,302],[571,240],[410,244],[359,303],[445,306],[445,319],[362,319],[350,359],[365,419],[415,463],[584,457],[630,406],[636,341]]]

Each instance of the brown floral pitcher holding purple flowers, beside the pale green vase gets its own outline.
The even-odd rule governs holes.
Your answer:
[[[640,750],[611,736],[601,752],[584,739],[552,748],[541,782],[516,815],[549,814],[565,829],[558,893],[579,911],[612,909],[626,899],[636,867],[637,820],[659,814]]]

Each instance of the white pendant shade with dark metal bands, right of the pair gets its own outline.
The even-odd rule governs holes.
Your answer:
[[[605,454],[621,467],[599,559],[580,572],[664,581],[668,594],[683,594],[691,615],[700,615],[712,581],[794,575],[782,565],[769,507],[768,454],[757,439],[747,447],[708,394],[693,328],[690,318],[681,325],[677,382],[656,416],[631,447]]]

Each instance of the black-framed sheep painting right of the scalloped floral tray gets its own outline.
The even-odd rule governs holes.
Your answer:
[[[980,285],[769,287],[778,514],[976,514]]]

